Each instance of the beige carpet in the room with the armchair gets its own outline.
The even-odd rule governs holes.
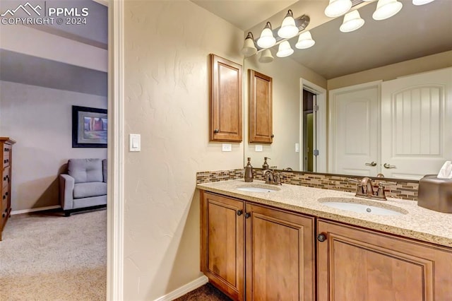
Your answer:
[[[105,300],[107,211],[11,216],[0,242],[0,300]]]

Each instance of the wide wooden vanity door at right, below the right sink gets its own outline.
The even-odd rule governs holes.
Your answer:
[[[325,300],[452,300],[448,248],[318,220],[317,294]]]

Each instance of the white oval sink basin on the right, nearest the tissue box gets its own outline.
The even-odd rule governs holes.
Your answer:
[[[322,205],[340,210],[353,211],[357,213],[374,214],[376,216],[403,216],[407,214],[402,208],[381,204],[367,200],[352,198],[322,198],[319,199]]]

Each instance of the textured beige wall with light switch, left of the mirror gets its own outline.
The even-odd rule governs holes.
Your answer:
[[[196,172],[242,168],[243,143],[208,138],[208,55],[242,64],[243,31],[191,1],[125,2],[124,300],[200,277]]]

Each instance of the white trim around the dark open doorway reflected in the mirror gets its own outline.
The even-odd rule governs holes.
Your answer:
[[[304,78],[299,79],[300,86],[300,116],[303,118],[303,89],[308,90],[316,95],[316,103],[319,106],[319,111],[316,113],[316,146],[319,150],[319,155],[316,158],[316,170],[314,172],[326,172],[326,89],[322,88],[315,83],[305,80]],[[300,119],[300,143],[303,141],[303,119]],[[302,151],[300,150],[300,167],[303,167],[304,160]],[[303,170],[302,168],[300,170]]]

